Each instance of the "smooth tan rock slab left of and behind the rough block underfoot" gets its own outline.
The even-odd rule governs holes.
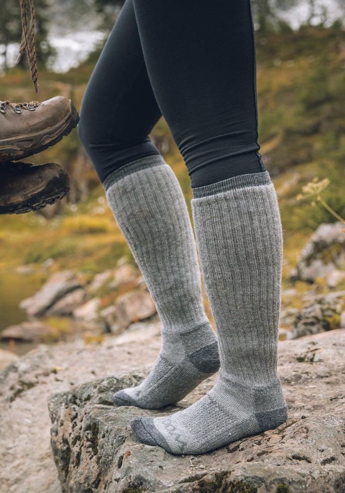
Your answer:
[[[48,396],[140,365],[160,350],[160,325],[99,345],[83,340],[40,345],[0,371],[0,492],[61,493],[50,446]]]

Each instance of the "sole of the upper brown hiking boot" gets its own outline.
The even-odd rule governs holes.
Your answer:
[[[11,140],[11,144],[1,143],[0,141],[0,164],[7,161],[18,161],[19,159],[24,159],[25,157],[32,156],[38,152],[42,152],[48,147],[55,145],[60,142],[62,138],[69,133],[78,125],[79,115],[76,107],[73,103],[70,103],[70,114],[65,121],[59,122],[55,127],[47,129],[46,133],[37,132],[36,134],[24,135],[17,137],[15,140]],[[67,125],[66,125],[67,124]],[[63,128],[61,128],[63,125]],[[50,133],[49,133],[50,130]],[[31,148],[23,150],[20,147],[20,143],[35,141]],[[15,144],[17,142],[17,145]]]

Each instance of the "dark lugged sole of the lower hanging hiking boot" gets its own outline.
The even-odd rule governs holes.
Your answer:
[[[55,204],[65,197],[69,191],[69,177],[64,170],[59,176],[48,179],[44,188],[31,197],[24,199],[18,205],[0,207],[0,214],[24,214],[26,212],[38,211],[43,207]]]

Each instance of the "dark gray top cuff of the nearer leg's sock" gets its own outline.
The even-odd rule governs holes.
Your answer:
[[[272,182],[268,171],[233,176],[232,178],[211,183],[210,185],[192,188],[193,199],[209,197],[210,195],[216,195],[218,193],[228,192],[229,190],[236,190],[239,188],[270,185],[271,183]]]

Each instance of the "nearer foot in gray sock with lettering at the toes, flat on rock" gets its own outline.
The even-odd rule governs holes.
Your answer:
[[[219,377],[215,387],[183,411],[164,418],[135,418],[138,440],[171,454],[205,454],[235,440],[276,428],[287,419],[280,382],[245,388]]]

